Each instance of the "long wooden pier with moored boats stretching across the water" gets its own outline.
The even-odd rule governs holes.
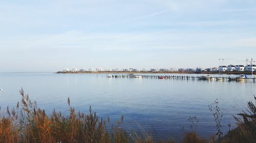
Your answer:
[[[140,76],[141,78],[159,78],[163,77],[164,79],[176,79],[176,80],[216,80],[216,81],[252,81],[255,83],[256,78],[244,78],[239,79],[237,77],[206,77],[206,76],[183,76],[183,75],[135,75],[135,74],[115,74],[112,75],[112,78],[136,78]]]

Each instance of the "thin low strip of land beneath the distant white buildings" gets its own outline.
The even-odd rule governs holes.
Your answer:
[[[203,72],[179,72],[179,71],[174,71],[174,72],[61,72],[61,71],[58,71],[56,73],[62,73],[62,74],[69,74],[69,73],[79,73],[79,74],[82,74],[82,73],[93,73],[93,74],[97,74],[97,73],[105,73],[105,74],[163,74],[163,73],[166,73],[166,74],[247,74],[247,75],[251,75],[251,72],[249,71],[243,71],[243,72],[239,72],[239,71],[225,71],[225,72],[215,72],[215,71],[211,71],[211,72],[206,72],[206,71],[203,71]],[[256,72],[253,71],[253,75],[255,75]]]

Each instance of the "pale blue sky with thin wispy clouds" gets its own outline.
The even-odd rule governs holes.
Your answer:
[[[0,1],[0,19],[0,72],[256,61],[255,0]]]

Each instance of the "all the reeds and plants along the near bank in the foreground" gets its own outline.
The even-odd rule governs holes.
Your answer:
[[[15,108],[9,109],[7,107],[5,111],[0,113],[0,143],[155,142],[153,137],[143,129],[141,129],[140,134],[134,131],[125,131],[118,126],[107,130],[106,123],[110,122],[109,118],[107,121],[98,119],[91,107],[88,114],[75,111],[70,106],[69,99],[70,112],[68,116],[64,116],[61,112],[55,110],[52,111],[51,115],[46,115],[45,110],[37,107],[36,102],[31,101],[23,90],[20,90],[20,95],[22,100],[17,103]],[[254,99],[256,101],[255,97]],[[234,117],[238,127],[230,130],[224,137],[220,128],[222,112],[218,101],[209,105],[209,110],[213,113],[216,121],[216,135],[203,139],[197,135],[196,130],[193,130],[193,132],[186,133],[181,142],[256,142],[256,106],[253,102],[248,102],[248,109],[239,114],[240,118]],[[120,125],[122,120],[123,117],[117,124]],[[193,126],[191,126],[193,129],[197,119],[190,118],[189,121],[193,123]],[[167,142],[174,143],[175,141],[170,139]]]

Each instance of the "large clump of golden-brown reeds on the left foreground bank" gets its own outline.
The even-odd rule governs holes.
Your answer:
[[[69,115],[62,115],[55,109],[47,115],[29,95],[20,90],[20,103],[11,110],[9,107],[0,113],[0,143],[55,143],[55,142],[153,142],[151,136],[141,137],[132,132],[113,127],[111,133],[106,130],[106,121],[99,119],[90,106],[89,113],[76,111],[70,106]],[[121,117],[121,122],[123,117]],[[120,123],[121,123],[120,122]]]

